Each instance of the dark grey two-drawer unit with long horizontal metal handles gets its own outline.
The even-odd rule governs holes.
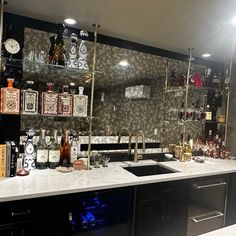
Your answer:
[[[225,221],[227,176],[191,180],[187,236],[222,228]]]

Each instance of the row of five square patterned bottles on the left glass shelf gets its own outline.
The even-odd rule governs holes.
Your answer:
[[[64,85],[62,92],[54,91],[53,83],[47,83],[46,91],[39,94],[34,90],[34,82],[27,81],[25,89],[13,87],[14,79],[7,79],[8,86],[1,88],[1,110],[3,115],[21,115],[37,117],[66,117],[86,118],[88,96],[84,94],[84,88],[73,87],[70,90]],[[39,99],[40,98],[40,99]]]

